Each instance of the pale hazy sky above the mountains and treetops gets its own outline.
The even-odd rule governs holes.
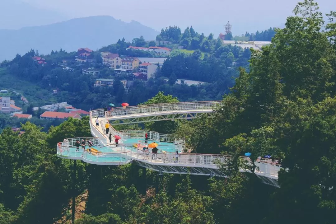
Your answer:
[[[282,26],[298,0],[22,0],[38,8],[57,11],[67,18],[111,15],[136,20],[158,31],[192,25],[199,33],[218,35],[230,21],[234,35]],[[303,0],[301,0],[303,1]],[[336,0],[318,0],[320,10],[336,10]]]

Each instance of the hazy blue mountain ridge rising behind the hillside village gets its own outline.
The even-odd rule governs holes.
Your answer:
[[[60,48],[68,52],[85,47],[95,50],[116,43],[118,39],[132,41],[143,36],[145,40],[154,40],[158,34],[158,31],[137,21],[125,23],[111,16],[91,16],[46,26],[0,30],[0,61],[12,59],[17,53],[24,54],[31,48],[40,54]]]

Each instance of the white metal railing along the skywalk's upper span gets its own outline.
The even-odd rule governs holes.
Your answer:
[[[173,111],[188,111],[188,110],[211,110],[221,105],[223,105],[222,101],[160,103],[150,105],[128,106],[126,108],[116,107],[113,109],[113,111],[106,111],[106,115],[109,119],[113,119],[114,116],[158,113],[164,111],[173,112]]]

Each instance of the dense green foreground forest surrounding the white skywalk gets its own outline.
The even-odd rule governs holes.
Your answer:
[[[52,224],[70,217],[73,192],[88,194],[76,224],[335,223],[336,12],[327,14],[330,20],[324,24],[318,10],[313,0],[298,3],[272,44],[252,51],[249,71],[240,68],[215,118],[146,124],[146,130],[171,130],[183,137],[192,153],[232,155],[221,166],[229,178],[160,176],[147,170],[144,181],[134,164],[77,161],[72,189],[73,162],[57,158],[55,147],[65,137],[90,135],[88,118],[69,119],[48,133],[27,123],[20,136],[10,129],[0,135],[0,223]],[[147,99],[139,101],[176,102],[180,97],[159,93]],[[251,173],[238,172],[239,155],[247,151],[251,160],[264,154],[280,159],[280,188],[262,184],[255,167]]]

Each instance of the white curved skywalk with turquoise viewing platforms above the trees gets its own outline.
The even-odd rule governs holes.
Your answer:
[[[153,131],[116,131],[113,127],[110,127],[112,137],[119,135],[119,147],[114,144],[110,144],[108,135],[104,133],[105,124],[112,121],[119,121],[125,119],[137,119],[145,118],[143,116],[156,117],[156,113],[160,116],[166,115],[185,115],[185,114],[206,114],[212,113],[215,106],[220,105],[219,101],[211,102],[187,102],[172,104],[154,104],[145,106],[130,107],[132,109],[126,111],[126,115],[122,114],[124,108],[115,108],[113,114],[104,112],[103,109],[90,111],[90,129],[94,136],[84,138],[91,140],[95,152],[89,152],[86,147],[76,151],[75,142],[82,140],[82,138],[68,139],[67,142],[61,142],[57,145],[57,156],[66,159],[83,160],[87,163],[97,165],[123,165],[130,162],[137,165],[158,171],[160,173],[174,173],[174,174],[192,174],[192,175],[207,175],[207,176],[221,176],[226,177],[221,173],[216,162],[224,163],[228,157],[219,154],[194,154],[194,153],[182,153],[183,141],[174,140],[171,135],[159,134]],[[184,104],[184,105],[183,105]],[[161,106],[160,106],[161,105]],[[140,108],[139,108],[140,107]],[[210,109],[211,108],[211,109]],[[128,114],[127,114],[128,113]],[[112,116],[113,115],[113,116]],[[127,118],[125,116],[128,116]],[[99,128],[95,127],[95,120],[98,117],[100,122]],[[175,119],[189,119],[194,117],[184,117]],[[160,119],[159,117],[155,119]],[[169,118],[171,119],[171,118]],[[169,120],[168,117],[162,120]],[[125,120],[128,121],[129,120]],[[146,122],[144,120],[138,122]],[[157,120],[149,120],[157,121]],[[134,122],[133,123],[138,123]],[[129,123],[128,123],[129,124]],[[159,153],[144,153],[142,150],[138,150],[133,147],[133,144],[144,145],[144,134],[148,133],[148,143],[157,142],[159,144]],[[112,138],[114,143],[114,137]],[[140,148],[141,149],[141,148]],[[179,153],[177,156],[173,152],[177,150]],[[247,165],[251,165],[251,160],[247,157],[242,157]],[[256,161],[255,174],[262,179],[266,184],[270,184],[276,187],[278,185],[278,171],[281,169],[281,165],[269,163],[269,160]],[[248,170],[241,169],[241,172],[250,172]]]

